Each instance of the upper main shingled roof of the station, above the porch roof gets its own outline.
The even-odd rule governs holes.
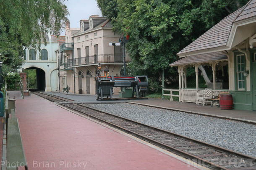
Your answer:
[[[183,48],[179,56],[192,51],[205,50],[209,48],[225,47],[230,36],[232,24],[256,16],[256,0],[250,0],[245,6],[222,19],[202,36]]]

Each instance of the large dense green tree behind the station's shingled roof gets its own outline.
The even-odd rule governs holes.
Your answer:
[[[161,89],[165,78],[177,84],[176,53],[248,0],[97,0],[112,19],[115,32],[129,34],[130,74],[149,76],[150,88]],[[193,69],[188,73],[192,76]],[[158,88],[156,86],[158,85]],[[152,92],[153,92],[152,91]]]

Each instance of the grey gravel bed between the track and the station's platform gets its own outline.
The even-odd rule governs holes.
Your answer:
[[[86,106],[256,157],[253,124],[128,103]]]

